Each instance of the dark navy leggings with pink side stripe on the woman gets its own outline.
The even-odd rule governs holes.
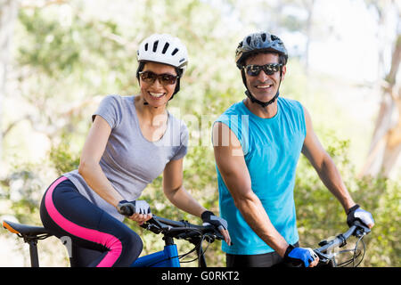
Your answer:
[[[45,229],[72,241],[71,266],[129,266],[143,249],[134,231],[92,204],[64,176],[45,191],[40,217]]]

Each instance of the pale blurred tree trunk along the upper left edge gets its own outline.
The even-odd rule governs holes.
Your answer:
[[[6,93],[6,75],[10,58],[10,47],[14,22],[17,19],[18,1],[0,0],[0,161],[2,161],[2,117],[3,100]]]

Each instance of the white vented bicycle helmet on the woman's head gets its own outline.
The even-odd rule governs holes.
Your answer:
[[[143,40],[137,52],[138,61],[155,61],[181,69],[183,74],[188,64],[186,47],[178,37],[168,34],[153,34]]]

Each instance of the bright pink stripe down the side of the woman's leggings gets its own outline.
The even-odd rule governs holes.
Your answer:
[[[104,256],[102,261],[97,265],[97,267],[111,267],[117,261],[121,255],[122,245],[121,241],[109,233],[99,232],[92,229],[86,229],[78,224],[71,223],[64,216],[61,216],[59,211],[54,207],[53,203],[53,191],[54,188],[61,182],[67,180],[67,177],[60,177],[57,179],[49,188],[45,196],[45,207],[47,212],[52,217],[53,221],[61,226],[61,228],[70,232],[70,234],[77,236],[78,238],[84,240],[90,240],[99,244],[104,245],[109,248],[109,253]]]

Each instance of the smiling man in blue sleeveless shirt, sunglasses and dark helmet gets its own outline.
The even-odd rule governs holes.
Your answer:
[[[307,110],[279,96],[287,59],[279,37],[267,32],[245,37],[235,60],[247,98],[213,126],[220,213],[233,241],[223,244],[227,266],[317,265],[313,250],[298,243],[293,190],[301,152],[340,201],[348,224],[356,218],[374,224],[349,195]]]

